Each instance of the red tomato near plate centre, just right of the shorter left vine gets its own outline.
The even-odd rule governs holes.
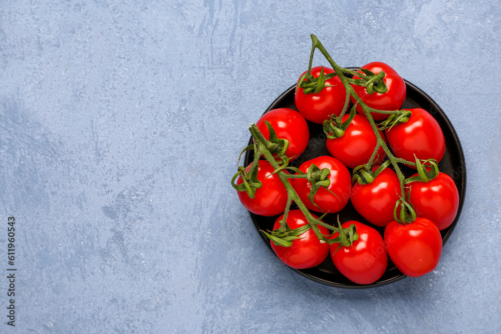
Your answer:
[[[312,211],[329,213],[341,211],[346,203],[348,203],[351,194],[351,176],[348,168],[336,158],[320,156],[305,161],[299,166],[299,170],[306,173],[312,164],[315,164],[320,169],[329,168],[331,173],[329,174],[330,185],[328,189],[335,195],[321,187],[313,198],[313,201],[320,207],[319,209],[308,198],[311,183],[307,179],[294,179],[293,187],[298,193],[299,198]]]

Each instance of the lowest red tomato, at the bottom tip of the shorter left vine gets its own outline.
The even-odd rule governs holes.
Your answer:
[[[339,243],[333,243],[331,245],[332,261],[336,268],[352,282],[374,283],[381,278],[388,264],[383,237],[374,228],[355,220],[347,221],[342,226],[348,228],[351,224],[357,226],[358,240],[353,242],[352,247],[341,246],[339,249]],[[332,238],[338,235],[335,233]]]

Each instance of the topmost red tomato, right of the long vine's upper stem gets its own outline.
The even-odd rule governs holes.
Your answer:
[[[371,71],[374,74],[378,74],[381,71],[384,71],[385,77],[383,79],[384,83],[388,87],[388,91],[384,94],[379,93],[367,93],[367,88],[362,86],[352,85],[355,93],[362,99],[365,104],[369,107],[379,110],[398,110],[402,107],[402,104],[405,100],[406,87],[405,82],[398,75],[398,73],[391,68],[389,65],[381,62],[372,62],[362,68]],[[363,73],[362,71],[358,71]],[[353,79],[360,79],[358,77],[353,77]],[[351,97],[351,101],[355,103],[355,99]],[[359,114],[364,115],[362,107],[357,106],[357,112]],[[375,121],[381,121],[387,119],[389,114],[381,114],[381,113],[371,113],[372,118]]]

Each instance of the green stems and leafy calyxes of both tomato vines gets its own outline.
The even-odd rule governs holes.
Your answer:
[[[400,184],[400,193],[402,194],[400,199],[395,204],[394,219],[401,224],[409,224],[413,222],[416,219],[416,214],[412,205],[405,198],[405,193],[406,193],[405,185],[408,182],[412,181],[405,179],[405,176],[400,170],[398,164],[399,163],[406,164],[409,166],[413,166],[414,168],[417,168],[420,176],[424,175],[425,177],[429,178],[432,175],[422,167],[419,159],[416,158],[415,162],[411,162],[396,157],[392,153],[392,151],[390,150],[390,148],[388,147],[388,145],[386,144],[385,140],[381,135],[381,130],[391,129],[391,127],[395,125],[407,122],[411,117],[412,113],[408,110],[398,110],[398,109],[379,110],[368,106],[359,97],[359,95],[356,93],[352,85],[365,87],[368,94],[373,94],[373,93],[384,94],[388,90],[388,87],[386,86],[383,80],[385,78],[385,72],[381,71],[375,74],[366,69],[359,69],[359,72],[357,72],[352,69],[342,68],[331,58],[329,53],[325,50],[324,46],[315,35],[311,35],[311,39],[312,39],[312,49],[310,53],[308,71],[300,77],[297,83],[296,91],[298,91],[299,88],[302,88],[304,94],[317,94],[326,87],[332,87],[330,85],[326,85],[326,80],[332,79],[336,76],[339,78],[340,82],[342,83],[346,91],[344,106],[338,116],[333,114],[328,120],[324,121],[323,124],[324,132],[326,133],[328,138],[342,137],[347,127],[350,125],[351,121],[355,116],[357,106],[359,106],[363,110],[363,113],[365,114],[367,121],[369,122],[370,127],[376,136],[377,142],[370,159],[364,165],[360,165],[353,170],[354,174],[353,181],[358,182],[360,184],[371,183],[374,181],[377,175],[382,172],[382,170],[384,170],[391,164],[398,177],[398,181]],[[324,68],[322,67],[320,75],[317,78],[315,78],[312,75],[312,63],[315,50],[317,49],[322,53],[322,55],[332,66],[334,72],[325,74]],[[353,79],[350,76],[354,76],[359,79]],[[342,122],[343,116],[348,111],[348,107],[350,104],[350,97],[354,100],[354,106],[350,110],[349,117],[345,119],[344,122]],[[374,121],[371,113],[388,114],[389,117],[378,125]],[[312,185],[312,193],[310,194],[310,201],[311,201],[315,196],[315,192],[320,187],[327,189],[327,187],[329,186],[330,181],[326,177],[329,174],[329,170],[328,169],[321,170],[317,166],[312,165],[311,166],[312,169],[309,170],[308,173],[304,173],[297,168],[290,167],[289,162],[292,161],[293,158],[295,157],[288,157],[286,155],[286,151],[289,146],[289,141],[286,139],[278,138],[270,123],[268,121],[265,121],[265,123],[269,130],[270,139],[267,140],[265,138],[265,136],[256,126],[256,124],[252,124],[249,127],[249,131],[254,138],[254,144],[247,146],[242,151],[242,153],[246,150],[254,150],[254,162],[248,171],[245,171],[243,167],[238,167],[238,172],[234,175],[232,179],[232,185],[236,190],[246,191],[248,196],[252,198],[255,194],[255,190],[262,186],[262,183],[256,178],[257,172],[255,170],[257,168],[257,165],[259,164],[260,157],[263,156],[266,160],[268,160],[268,162],[274,168],[275,170],[274,174],[277,174],[280,180],[283,182],[287,190],[288,200],[287,200],[287,205],[285,207],[285,212],[283,214],[283,218],[280,222],[280,227],[278,229],[274,229],[273,231],[268,231],[268,232],[263,231],[263,232],[276,244],[280,244],[282,246],[290,246],[292,244],[292,240],[299,238],[299,235],[301,235],[301,233],[304,233],[305,229],[307,230],[310,228],[313,229],[313,231],[315,232],[316,236],[318,237],[321,243],[332,244],[333,240],[331,240],[330,237],[332,236],[332,234],[336,232],[341,233],[343,235],[342,237],[343,240],[346,240],[346,238],[348,238],[350,235],[353,236],[353,233],[356,233],[355,226],[350,228],[343,228],[341,226],[339,227],[331,226],[329,224],[324,223],[321,220],[325,216],[325,214],[327,214],[327,212],[325,212],[324,215],[319,218],[316,218],[316,216],[311,214],[307,206],[301,201],[298,193],[296,192],[290,181],[291,179],[297,179],[297,178],[306,178],[309,181],[316,180],[317,183],[316,184],[313,183]],[[373,164],[375,163],[377,152],[380,151],[380,149],[382,149],[386,154],[387,160],[383,164],[381,164],[379,168],[373,170]],[[435,165],[428,164],[428,166],[435,167],[436,164]],[[294,171],[295,174],[287,173],[286,170]],[[432,172],[432,174],[437,174],[437,173]],[[243,182],[240,182],[241,184],[235,185],[234,181],[238,177],[240,177],[243,180]],[[304,213],[308,221],[309,227],[303,226],[299,229],[290,229],[287,226],[286,221],[288,213],[290,211],[290,207],[293,202],[296,203],[299,209]],[[400,210],[397,210],[398,206],[400,206]],[[333,232],[331,233],[331,235],[325,235],[321,233],[319,226],[323,226]]]

